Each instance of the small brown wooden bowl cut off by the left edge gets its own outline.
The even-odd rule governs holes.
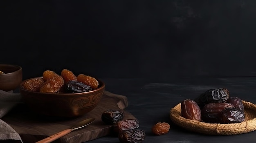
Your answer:
[[[12,64],[0,64],[0,90],[11,91],[18,88],[22,81],[22,68]]]

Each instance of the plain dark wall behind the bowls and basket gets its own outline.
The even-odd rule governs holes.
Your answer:
[[[23,0],[2,13],[0,64],[23,78],[256,75],[255,0]]]

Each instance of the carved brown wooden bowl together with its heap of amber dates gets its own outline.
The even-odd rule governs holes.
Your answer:
[[[42,77],[23,80],[22,101],[35,114],[45,117],[79,117],[93,110],[105,90],[103,81],[89,75],[74,75],[63,69],[61,74],[45,70]]]

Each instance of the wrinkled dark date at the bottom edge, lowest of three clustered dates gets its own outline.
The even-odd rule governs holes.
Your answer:
[[[146,134],[144,130],[133,129],[120,132],[118,139],[121,143],[142,143],[145,136]]]

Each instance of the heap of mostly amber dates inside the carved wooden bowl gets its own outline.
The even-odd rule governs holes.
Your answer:
[[[98,88],[99,82],[89,75],[76,76],[67,69],[63,69],[60,75],[52,70],[45,70],[43,78],[29,79],[23,87],[27,90],[45,93],[79,93]]]

